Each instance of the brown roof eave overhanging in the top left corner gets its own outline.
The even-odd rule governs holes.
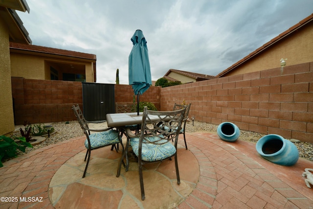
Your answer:
[[[25,0],[1,0],[0,18],[7,24],[10,34],[10,41],[22,44],[31,44],[28,32],[15,9],[22,12],[28,11],[29,7]]]

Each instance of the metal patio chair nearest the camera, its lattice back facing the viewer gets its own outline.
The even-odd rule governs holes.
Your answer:
[[[185,111],[186,108],[166,112],[150,111],[145,107],[142,116],[141,132],[138,135],[134,135],[130,129],[126,129],[128,138],[126,147],[130,144],[134,154],[138,157],[142,200],[145,199],[142,175],[142,165],[144,164],[162,162],[175,157],[177,183],[180,184],[177,142]],[[175,141],[174,144],[172,140]],[[121,166],[118,169],[120,170],[120,168]]]

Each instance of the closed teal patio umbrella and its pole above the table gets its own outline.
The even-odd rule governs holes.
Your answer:
[[[133,37],[133,48],[128,60],[128,79],[137,95],[137,115],[139,115],[139,95],[152,85],[147,41],[141,30],[136,30]]]

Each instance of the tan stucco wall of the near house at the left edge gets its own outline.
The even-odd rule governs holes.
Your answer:
[[[0,18],[0,135],[14,130],[9,32]]]

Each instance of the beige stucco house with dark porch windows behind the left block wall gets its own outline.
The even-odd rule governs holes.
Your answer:
[[[38,80],[96,82],[96,55],[10,43],[11,76]]]

